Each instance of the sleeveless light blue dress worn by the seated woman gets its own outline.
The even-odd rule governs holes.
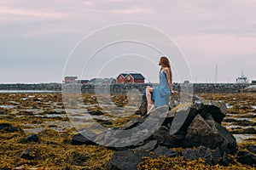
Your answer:
[[[166,72],[160,72],[160,83],[157,87],[153,88],[152,99],[154,100],[154,106],[166,105],[166,99],[172,94],[167,82]]]

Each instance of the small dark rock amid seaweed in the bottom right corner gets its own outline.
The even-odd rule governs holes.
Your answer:
[[[238,151],[237,161],[241,162],[241,164],[256,166],[256,156],[244,150]]]

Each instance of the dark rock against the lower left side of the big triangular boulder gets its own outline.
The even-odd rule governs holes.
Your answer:
[[[180,146],[180,139],[177,139],[175,135],[170,134],[167,127],[159,127],[153,134],[153,139],[157,140],[159,144],[168,147]]]

